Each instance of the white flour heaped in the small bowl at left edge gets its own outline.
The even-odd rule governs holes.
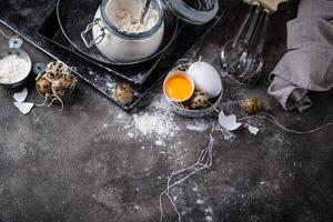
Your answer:
[[[8,84],[27,77],[30,64],[17,54],[7,56],[0,60],[0,82]]]

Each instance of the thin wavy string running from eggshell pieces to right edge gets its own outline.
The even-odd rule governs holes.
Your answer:
[[[256,114],[256,115],[251,115],[251,117],[246,117],[246,118],[242,118],[242,119],[239,119],[239,121],[245,121],[245,120],[249,120],[249,119],[253,119],[253,118],[261,118],[261,119],[265,119],[265,120],[269,120],[271,122],[273,122],[276,127],[279,127],[280,129],[286,131],[286,132],[291,132],[291,133],[295,133],[295,134],[307,134],[307,133],[313,133],[313,132],[316,132],[316,131],[320,131],[326,127],[330,127],[330,125],[333,125],[333,122],[329,122],[329,123],[325,123],[319,128],[315,128],[315,129],[312,129],[312,130],[306,130],[306,131],[297,131],[297,130],[293,130],[293,129],[287,129],[286,127],[282,125],[278,120],[276,118],[274,118],[273,115],[271,114],[268,114],[268,113],[261,113],[261,114]]]

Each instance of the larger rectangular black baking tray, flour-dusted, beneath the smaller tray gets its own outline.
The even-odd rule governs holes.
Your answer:
[[[54,43],[54,41],[52,42],[38,34],[38,30],[52,13],[56,4],[57,1],[44,0],[0,0],[0,21],[53,59],[61,60],[68,65],[74,67],[77,69],[77,75],[82,78],[108,99],[115,102],[123,110],[131,110],[142,101],[145,94],[161,78],[163,78],[172,65],[182,58],[191,47],[192,49],[195,48],[193,44],[202,36],[209,32],[220,21],[223,14],[222,12],[219,12],[219,14],[205,26],[194,27],[184,24],[173,44],[161,56],[159,62],[148,67],[148,70],[150,70],[152,74],[145,79],[143,84],[132,84],[135,92],[133,103],[123,105],[115,101],[113,89],[118,83],[127,82],[125,79],[113,74],[112,69],[107,70],[105,68],[101,68],[100,65],[90,62],[87,58],[79,56],[78,52],[73,53],[73,48],[70,47],[68,42],[64,44],[65,41],[63,41],[63,46],[60,47],[59,43]],[[60,39],[65,40],[65,38],[61,36],[62,33],[58,31],[53,37],[57,38],[58,41]],[[132,69],[135,70],[134,68]],[[137,74],[142,75],[142,71]]]

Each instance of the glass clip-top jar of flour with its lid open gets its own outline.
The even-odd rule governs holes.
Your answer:
[[[181,20],[203,24],[215,17],[218,0],[151,0],[143,21],[141,13],[145,0],[102,0],[94,20],[81,33],[88,48],[97,48],[108,59],[134,62],[152,56],[164,34],[164,10]],[[92,30],[93,40],[85,34]]]

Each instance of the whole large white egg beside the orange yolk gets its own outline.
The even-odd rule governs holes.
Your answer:
[[[193,79],[195,89],[215,98],[222,92],[222,80],[216,69],[208,62],[199,61],[190,65],[188,74]]]

